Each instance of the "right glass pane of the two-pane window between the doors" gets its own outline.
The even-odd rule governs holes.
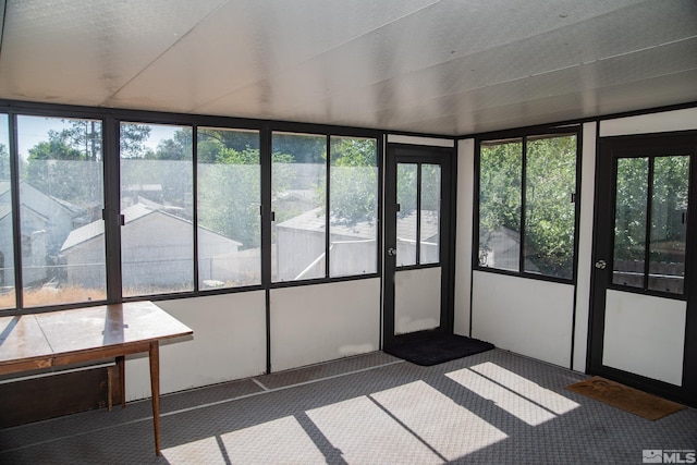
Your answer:
[[[528,139],[524,271],[573,278],[576,136]]]

